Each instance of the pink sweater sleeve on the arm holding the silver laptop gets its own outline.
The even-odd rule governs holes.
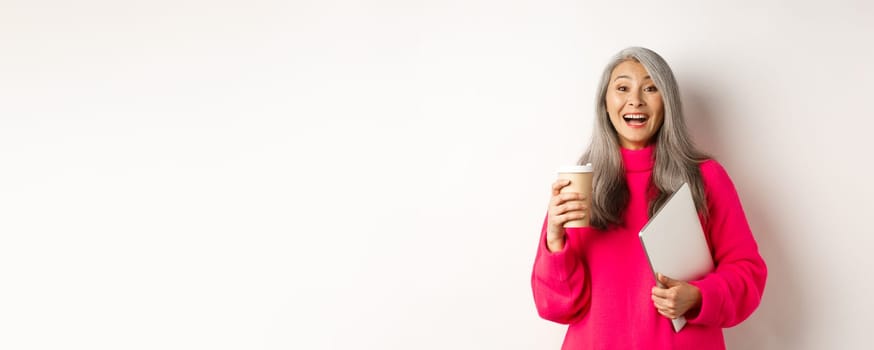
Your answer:
[[[715,270],[690,282],[701,290],[701,308],[687,321],[732,327],[759,306],[768,274],[740,198],[725,169],[713,160],[701,165],[709,209],[705,224]]]

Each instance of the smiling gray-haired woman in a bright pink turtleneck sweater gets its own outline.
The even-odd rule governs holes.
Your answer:
[[[591,205],[559,193],[541,230],[531,285],[541,317],[568,324],[562,349],[724,349],[722,328],[759,305],[767,268],[734,185],[695,149],[668,64],[653,51],[619,52],[601,77],[595,128],[581,164],[595,169]],[[687,182],[715,270],[696,281],[658,275],[638,232]],[[563,228],[589,218],[590,226]],[[685,316],[674,332],[670,320]]]

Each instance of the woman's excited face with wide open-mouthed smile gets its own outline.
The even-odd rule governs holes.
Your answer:
[[[607,86],[607,114],[627,149],[646,147],[664,121],[662,94],[642,64],[628,60],[613,68]]]

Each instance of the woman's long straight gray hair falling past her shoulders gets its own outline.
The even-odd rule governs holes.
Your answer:
[[[671,194],[689,183],[698,212],[708,216],[704,185],[699,165],[709,157],[699,152],[686,131],[686,122],[680,104],[680,90],[668,63],[652,50],[629,47],[610,60],[601,75],[601,84],[595,100],[595,128],[592,143],[580,157],[580,164],[592,163],[595,168],[594,191],[590,208],[590,223],[604,230],[610,224],[622,225],[623,211],[628,205],[628,184],[622,165],[619,137],[607,114],[606,96],[613,69],[622,62],[634,60],[646,68],[661,92],[665,116],[661,128],[653,136],[655,166],[650,185],[649,217],[667,201]]]

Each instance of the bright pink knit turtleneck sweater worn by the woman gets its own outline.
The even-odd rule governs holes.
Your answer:
[[[653,147],[623,149],[622,158],[630,192],[623,227],[569,228],[563,250],[549,252],[544,221],[531,276],[538,313],[569,325],[562,349],[725,349],[722,328],[756,309],[767,275],[734,184],[716,161],[701,164],[716,270],[690,282],[701,289],[701,309],[675,333],[653,306],[655,278],[637,235],[648,221]]]

